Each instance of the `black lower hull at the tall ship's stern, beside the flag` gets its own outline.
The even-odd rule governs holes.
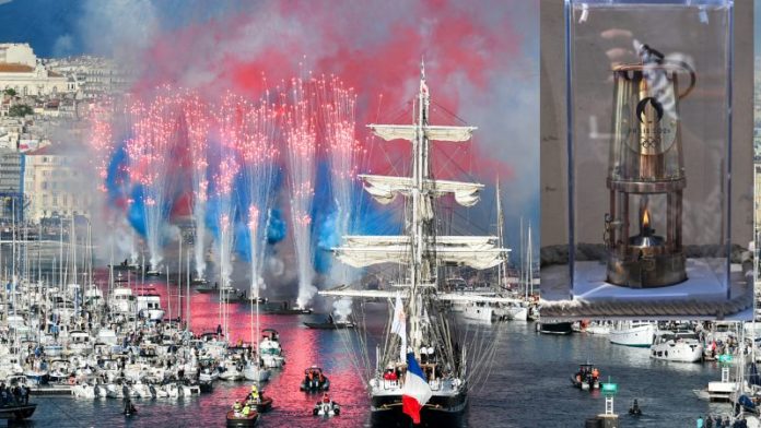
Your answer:
[[[468,408],[468,395],[434,395],[420,413],[415,427],[461,427]],[[412,418],[402,412],[401,395],[383,395],[372,399],[371,421],[374,427],[410,427]]]

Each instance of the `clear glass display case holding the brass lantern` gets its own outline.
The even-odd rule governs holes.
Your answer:
[[[728,0],[566,0],[574,299],[707,314],[734,297],[731,12]]]

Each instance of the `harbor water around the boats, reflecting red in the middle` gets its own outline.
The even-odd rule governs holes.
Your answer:
[[[157,287],[165,293],[163,287]],[[165,301],[165,299],[164,299]],[[176,301],[176,300],[175,300]],[[166,305],[166,304],[164,304]],[[249,341],[250,306],[231,304],[231,341]],[[196,333],[215,330],[219,305],[214,295],[192,294],[191,325]],[[176,310],[176,308],[175,308]],[[385,304],[355,307],[355,316],[366,320],[366,348],[375,359],[375,344],[387,320]],[[303,321],[321,316],[260,317],[261,328],[280,332],[286,365],[273,370],[265,383],[266,395],[274,399],[273,409],[262,415],[261,427],[370,427],[368,397],[358,373],[351,348],[359,345],[359,332],[311,330]],[[721,377],[715,362],[677,364],[654,360],[646,348],[611,345],[607,336],[574,333],[569,336],[542,335],[534,323],[503,322],[480,324],[463,322],[470,355],[478,356],[478,376],[471,379],[467,427],[583,427],[586,418],[605,411],[598,393],[571,385],[577,365],[589,360],[604,380],[619,385],[616,412],[621,427],[694,427],[698,416],[722,413],[727,404],[709,404],[692,390],[704,388]],[[489,346],[495,344],[493,358]],[[298,391],[304,369],[318,365],[330,378],[330,396],[342,406],[340,416],[321,419],[312,416],[317,395]],[[216,381],[214,391],[189,399],[136,400],[138,415],[121,415],[120,400],[73,397],[34,397],[38,407],[28,427],[222,427],[225,412],[250,389],[250,382]],[[627,414],[634,399],[643,415]],[[19,426],[14,424],[13,426]]]

